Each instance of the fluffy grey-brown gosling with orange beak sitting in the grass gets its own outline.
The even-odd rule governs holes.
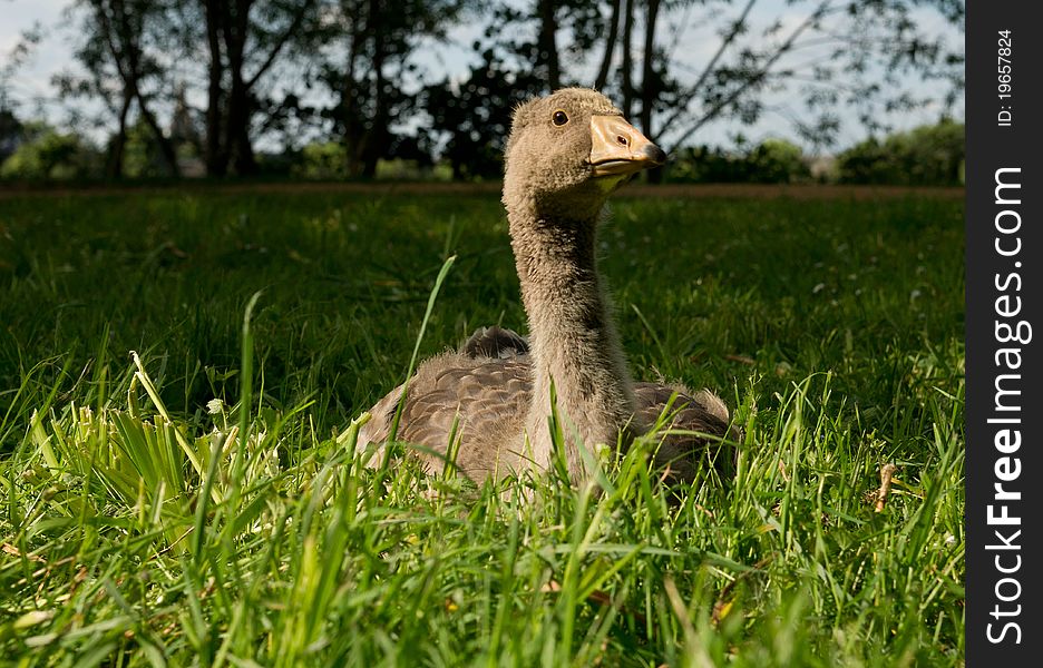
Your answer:
[[[566,88],[516,109],[505,158],[503,202],[529,336],[482,328],[460,351],[421,364],[396,439],[422,445],[412,452],[432,473],[455,453],[478,483],[546,470],[553,383],[573,481],[588,474],[579,448],[614,446],[621,434],[626,445],[667,404],[666,428],[689,433],[663,435],[656,464],[673,483],[691,481],[728,436],[728,409],[706,390],[631,380],[595,253],[605,200],[665,154],[603,95]],[[360,446],[376,444],[368,465],[384,456],[402,392],[377,402],[359,432]]]

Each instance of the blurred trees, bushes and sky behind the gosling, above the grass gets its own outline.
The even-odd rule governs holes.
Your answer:
[[[0,0],[0,181],[497,180],[604,91],[653,183],[959,186],[953,0]]]

